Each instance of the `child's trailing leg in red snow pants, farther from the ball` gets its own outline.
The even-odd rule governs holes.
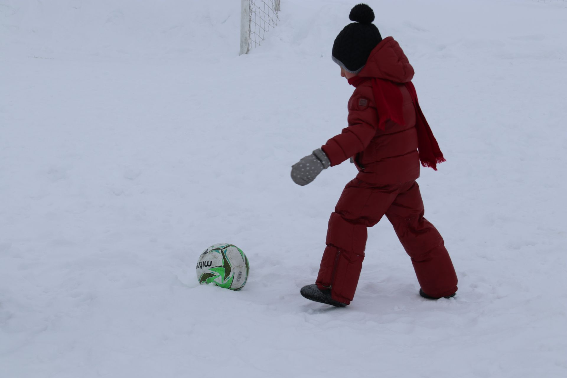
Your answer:
[[[422,290],[435,297],[457,290],[457,277],[443,238],[424,218],[424,205],[417,182],[403,188],[386,211],[397,237],[412,258]]]

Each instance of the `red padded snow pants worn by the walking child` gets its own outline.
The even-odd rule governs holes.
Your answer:
[[[333,299],[350,303],[362,269],[366,228],[384,214],[411,257],[422,290],[435,297],[453,294],[457,290],[455,269],[443,238],[424,218],[415,180],[376,187],[354,179],[346,185],[329,219],[317,286],[330,288]]]

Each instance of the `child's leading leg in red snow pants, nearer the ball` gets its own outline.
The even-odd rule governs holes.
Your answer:
[[[350,303],[358,284],[366,247],[366,227],[378,223],[399,193],[399,185],[372,188],[354,179],[338,199],[329,219],[327,248],[317,277],[334,300]]]

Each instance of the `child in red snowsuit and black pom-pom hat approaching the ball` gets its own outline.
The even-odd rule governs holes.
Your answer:
[[[348,103],[348,128],[294,164],[291,177],[307,185],[323,170],[346,159],[358,175],[338,199],[329,219],[327,248],[315,284],[301,294],[344,307],[353,300],[366,246],[366,228],[386,215],[412,260],[420,295],[450,298],[457,290],[451,258],[439,232],[424,218],[416,179],[420,161],[437,170],[444,162],[417,102],[413,67],[400,45],[382,39],[366,4],[355,6],[353,23],[338,34],[333,61],[356,89]]]

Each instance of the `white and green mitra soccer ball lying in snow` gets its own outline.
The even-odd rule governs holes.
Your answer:
[[[240,290],[248,279],[248,258],[236,245],[219,243],[205,249],[197,261],[200,284],[215,284],[230,290]]]

